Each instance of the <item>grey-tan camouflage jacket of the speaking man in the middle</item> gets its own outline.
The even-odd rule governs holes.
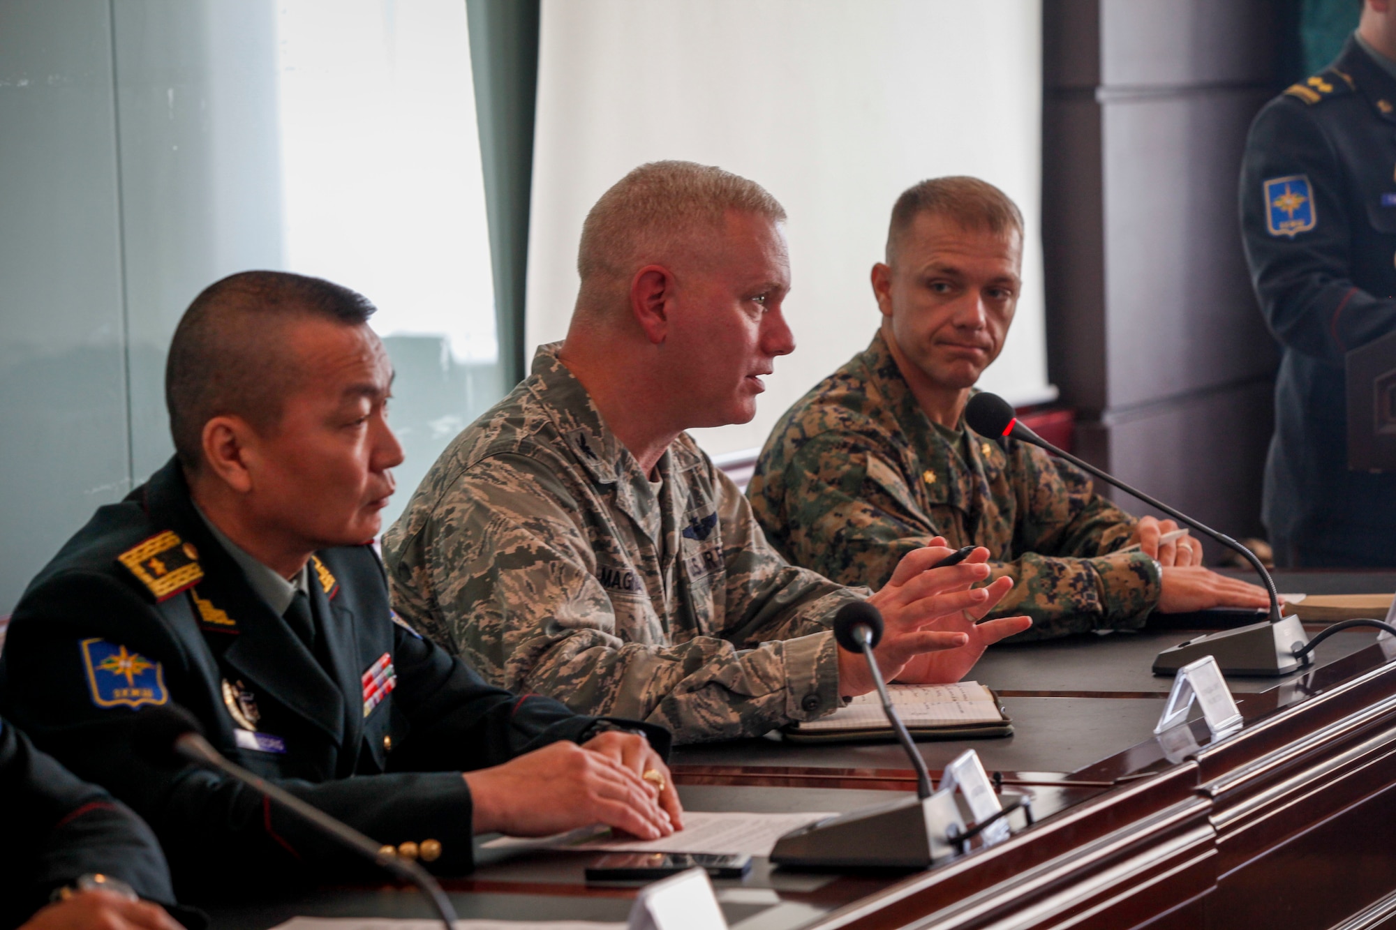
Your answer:
[[[656,496],[557,349],[447,447],[388,531],[396,610],[491,683],[677,741],[836,708],[829,620],[866,592],[786,563],[687,434]]]

